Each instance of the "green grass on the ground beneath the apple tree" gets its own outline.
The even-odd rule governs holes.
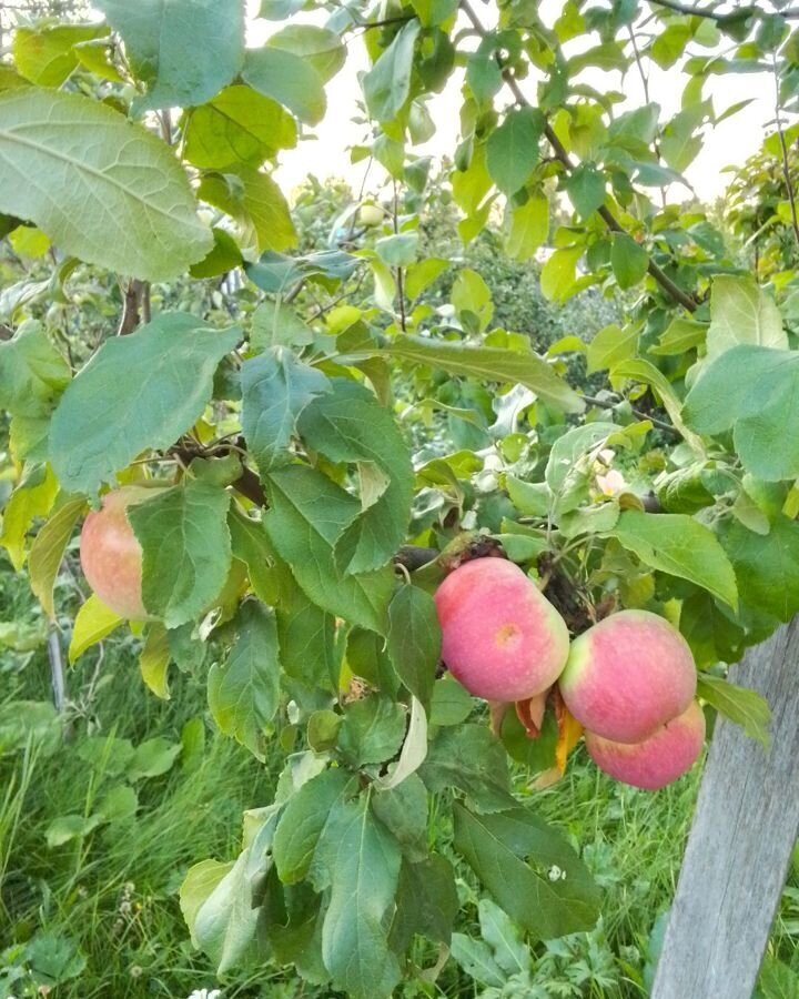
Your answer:
[[[22,577],[0,572],[0,617],[36,623],[38,612]],[[68,607],[70,594],[61,597]],[[99,674],[91,653],[68,677],[82,713],[65,737],[39,745],[29,740],[0,756],[0,999],[37,995],[42,982],[58,982],[51,993],[55,999],[181,999],[218,986],[209,961],[188,939],[178,887],[196,860],[237,852],[241,814],[271,800],[283,754],[260,766],[218,735],[206,717],[202,677],[176,675],[172,700],[159,702],[140,680],[133,643],[123,638],[105,645]],[[43,649],[9,653],[0,678],[0,713],[12,700],[49,697]],[[198,745],[201,733],[204,744]],[[165,739],[166,748],[159,744],[161,755],[151,769],[164,771],[133,779],[133,750],[119,740],[138,747],[155,737]],[[194,749],[174,757],[182,738]],[[594,871],[604,891],[603,918],[590,934],[537,948],[532,986],[503,996],[627,999],[647,993],[653,927],[672,897],[698,777],[694,773],[648,795],[606,779],[578,750],[567,776],[535,794],[540,814],[573,838]],[[523,774],[518,786],[524,789]],[[84,820],[110,793],[130,795],[122,788],[138,795],[135,816],[48,845],[55,820]],[[474,935],[471,884],[468,877],[461,880],[465,916],[459,929]],[[798,939],[795,879],[771,942],[771,952],[795,970]],[[432,957],[429,963],[435,960],[424,947],[419,953]],[[270,966],[256,975],[233,975],[222,989],[224,999],[333,995]],[[397,990],[408,999],[479,993],[453,961],[435,988],[416,982]]]

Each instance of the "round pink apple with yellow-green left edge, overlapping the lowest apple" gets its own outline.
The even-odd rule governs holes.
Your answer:
[[[685,712],[696,682],[690,648],[675,627],[648,610],[620,610],[572,643],[559,687],[586,730],[641,743]]]

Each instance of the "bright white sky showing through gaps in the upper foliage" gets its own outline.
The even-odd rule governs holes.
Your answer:
[[[547,12],[556,12],[559,6],[556,0],[544,0],[542,11],[545,19]],[[488,26],[487,13],[488,11],[481,7],[486,26]],[[318,20],[314,21],[312,16],[306,20],[310,23],[320,23]],[[280,27],[263,20],[252,20],[250,43],[263,42]],[[696,51],[704,54],[710,52],[707,49]],[[309,173],[314,173],[320,180],[327,176],[343,178],[355,190],[360,188],[364,163],[351,164],[348,147],[362,143],[365,139],[364,127],[355,124],[352,119],[357,114],[356,102],[361,97],[357,73],[366,69],[368,59],[364,46],[358,39],[354,39],[350,44],[344,68],[327,84],[327,115],[314,130],[316,139],[303,141],[296,149],[282,155],[275,178],[283,190],[291,192]],[[617,72],[604,73],[598,70],[587,70],[581,79],[597,89],[627,93],[628,104],[617,105],[619,111],[626,107],[635,108],[644,103],[643,83],[635,67],[624,79]],[[656,65],[650,67],[649,94],[650,99],[663,108],[661,121],[679,111],[682,88],[688,79],[677,69],[663,71]],[[428,110],[437,131],[427,143],[414,147],[414,153],[433,155],[436,159],[445,154],[452,155],[458,142],[461,80],[462,74],[455,73],[447,89],[429,102]],[[534,82],[527,83],[527,92],[532,97],[535,95]],[[757,152],[766,135],[768,123],[773,121],[773,79],[769,73],[710,77],[705,95],[712,98],[717,114],[738,101],[751,100],[751,103],[738,114],[727,119],[718,128],[707,131],[701,152],[685,172],[697,195],[705,201],[711,201],[724,193],[730,180],[730,174],[725,173],[724,169],[741,164]],[[508,104],[510,102],[507,93],[500,93],[497,107],[500,107],[499,102],[503,100]],[[373,176],[371,175],[371,179]],[[688,195],[687,191],[684,193]],[[675,190],[674,196],[682,195]]]

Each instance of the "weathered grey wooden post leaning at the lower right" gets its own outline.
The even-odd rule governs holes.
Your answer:
[[[799,834],[799,616],[730,678],[768,700],[771,746],[717,722],[653,999],[751,999]]]

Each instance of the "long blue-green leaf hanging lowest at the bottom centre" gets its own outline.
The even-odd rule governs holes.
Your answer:
[[[401,977],[384,930],[400,875],[398,844],[372,816],[367,796],[340,806],[327,834],[332,891],[322,929],[325,967],[353,999],[388,999]]]

